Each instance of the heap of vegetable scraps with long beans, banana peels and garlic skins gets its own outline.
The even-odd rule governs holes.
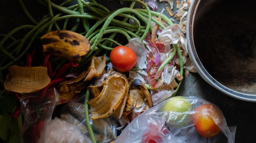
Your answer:
[[[114,141],[116,129],[174,96],[183,75],[187,75],[184,67],[189,59],[184,33],[191,1],[176,1],[178,10],[173,12],[175,15],[171,12],[172,0],[164,1],[168,2],[165,3],[166,10],[173,16],[171,19],[163,14],[165,9],[157,12],[153,1],[124,0],[129,2],[128,7],[110,11],[94,0],[66,0],[61,4],[37,0],[48,13],[36,21],[24,2],[19,0],[33,24],[19,26],[1,35],[0,121],[6,123],[8,120],[8,124],[18,128],[17,131],[5,125],[0,131],[1,140],[19,141],[21,133],[29,134],[22,131],[25,113],[36,121],[30,127],[36,129],[33,135],[42,136],[43,128],[48,127],[49,115],[52,117],[51,107],[83,102],[85,117],[81,120],[85,119],[90,141],[99,142],[97,134],[106,137],[99,131],[96,133],[91,122],[115,118],[119,127],[112,128],[114,137],[103,139],[103,142]],[[135,8],[135,4],[142,7]],[[178,24],[173,24],[176,20]],[[19,36],[20,33],[23,35]],[[111,52],[118,46],[135,53],[133,59],[136,61],[123,62],[127,64],[125,67],[130,66],[128,69],[116,64],[126,57]],[[57,93],[49,92],[53,88]],[[31,104],[21,100],[28,96],[34,96],[42,105],[37,107],[40,112],[29,111]],[[49,101],[57,105],[45,104]],[[80,116],[76,115],[77,118]],[[30,137],[31,142],[37,142],[37,139]]]

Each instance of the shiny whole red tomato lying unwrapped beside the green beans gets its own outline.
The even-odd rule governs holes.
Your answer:
[[[118,71],[128,72],[136,64],[137,57],[131,48],[120,45],[110,52],[110,61]]]

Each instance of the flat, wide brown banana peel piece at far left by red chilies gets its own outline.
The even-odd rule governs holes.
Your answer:
[[[47,67],[9,67],[9,74],[4,81],[7,91],[16,93],[31,93],[45,88],[51,79],[47,73]]]

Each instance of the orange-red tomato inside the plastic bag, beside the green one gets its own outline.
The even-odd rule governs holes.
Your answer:
[[[220,132],[220,128],[215,124],[213,119],[222,117],[217,108],[212,104],[203,104],[195,109],[196,113],[193,115],[195,122],[195,130],[203,137],[214,137]]]

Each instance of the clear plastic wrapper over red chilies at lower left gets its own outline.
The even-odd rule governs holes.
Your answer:
[[[55,88],[23,94],[20,97],[21,112],[24,116],[21,143],[38,143],[45,136],[47,124],[59,102]]]

